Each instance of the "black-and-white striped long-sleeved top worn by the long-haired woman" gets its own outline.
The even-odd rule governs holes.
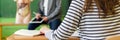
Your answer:
[[[79,28],[80,40],[104,40],[107,36],[120,35],[120,5],[116,5],[118,14],[99,18],[94,1],[88,13],[83,13],[84,0],[73,0],[63,22],[55,31],[46,33],[50,40],[67,39]]]

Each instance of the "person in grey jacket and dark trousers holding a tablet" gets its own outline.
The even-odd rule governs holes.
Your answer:
[[[28,29],[35,30],[41,24],[49,24],[50,29],[55,30],[61,23],[61,0],[40,0],[39,13],[36,14],[34,21],[40,21],[42,23],[29,23]]]

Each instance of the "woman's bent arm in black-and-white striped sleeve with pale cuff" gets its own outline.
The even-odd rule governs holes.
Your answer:
[[[49,40],[64,40],[70,37],[74,31],[77,30],[77,27],[79,27],[83,13],[82,7],[82,0],[73,0],[69,7],[67,15],[65,16],[58,29],[55,31],[50,30],[45,32],[45,36]]]

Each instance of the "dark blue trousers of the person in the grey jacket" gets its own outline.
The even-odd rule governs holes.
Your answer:
[[[58,28],[58,26],[60,25],[61,20],[60,19],[56,19],[53,20],[51,22],[49,22],[49,26],[51,30],[55,30]],[[28,24],[28,30],[35,30],[39,25],[41,24],[47,24],[46,22],[42,22],[42,23],[29,23]]]

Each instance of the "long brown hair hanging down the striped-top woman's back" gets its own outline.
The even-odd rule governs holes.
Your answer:
[[[84,12],[88,12],[89,7],[91,6],[92,1],[95,1],[98,11],[99,11],[99,17],[100,13],[104,13],[102,16],[105,18],[109,15],[117,14],[115,12],[116,5],[119,5],[119,0],[85,0],[84,5]],[[119,5],[120,6],[120,5]],[[101,12],[102,10],[102,12]]]

